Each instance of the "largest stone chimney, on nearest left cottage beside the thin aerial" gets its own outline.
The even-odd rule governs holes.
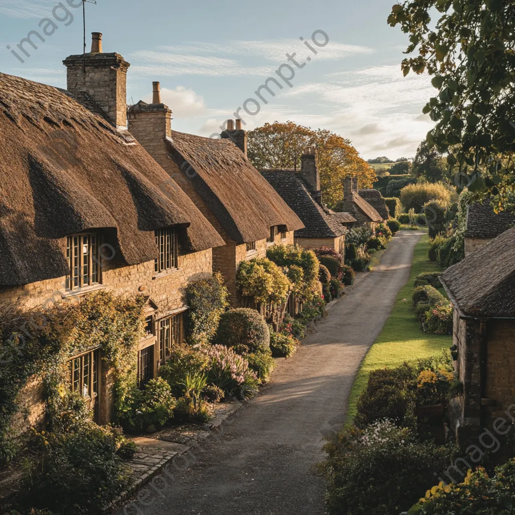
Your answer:
[[[102,35],[92,32],[91,52],[68,56],[66,89],[88,93],[119,129],[127,128],[127,70],[130,64],[116,53],[102,53]]]

